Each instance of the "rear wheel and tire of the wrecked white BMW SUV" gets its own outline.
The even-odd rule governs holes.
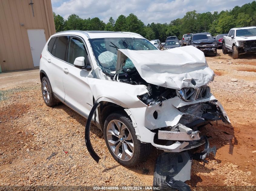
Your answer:
[[[49,107],[57,105],[58,100],[53,95],[52,86],[48,78],[46,77],[42,78],[41,88],[42,88],[42,96],[45,101],[45,104]]]

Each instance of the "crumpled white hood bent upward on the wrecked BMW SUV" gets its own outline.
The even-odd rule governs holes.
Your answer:
[[[125,65],[127,57],[141,78],[165,88],[198,88],[213,78],[213,71],[208,67],[204,53],[193,46],[164,51],[118,49],[116,74]],[[191,83],[192,79],[195,84]]]

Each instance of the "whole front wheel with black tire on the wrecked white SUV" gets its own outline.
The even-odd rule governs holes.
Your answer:
[[[148,158],[151,151],[150,143],[141,143],[137,139],[131,119],[125,113],[111,113],[106,118],[104,139],[112,157],[127,167],[141,163]]]

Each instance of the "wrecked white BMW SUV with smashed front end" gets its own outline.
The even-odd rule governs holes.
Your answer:
[[[40,60],[42,95],[62,102],[104,132],[125,166],[147,159],[151,146],[181,152],[206,143],[198,128],[230,123],[207,85],[204,54],[185,46],[161,51],[136,33],[64,31],[47,41]]]

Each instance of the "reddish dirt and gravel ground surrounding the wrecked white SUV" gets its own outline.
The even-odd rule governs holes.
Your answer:
[[[201,130],[211,136],[217,154],[205,166],[194,160],[186,183],[193,191],[256,190],[256,55],[233,60],[218,50],[206,59],[215,73],[211,92],[232,125],[214,122]],[[92,144],[101,157],[97,164],[85,147],[86,119],[63,104],[47,107],[40,83],[29,83],[0,86],[0,185],[152,186],[160,151],[153,149],[136,167],[123,167],[111,157],[102,132],[92,126]]]

